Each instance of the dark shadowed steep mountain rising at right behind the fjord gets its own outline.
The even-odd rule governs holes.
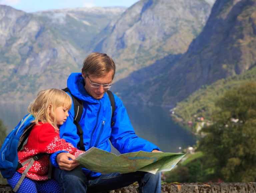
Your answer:
[[[159,60],[163,71],[152,73],[159,66],[152,64],[136,72],[147,78],[131,74],[113,91],[124,101],[174,107],[203,85],[243,74],[256,65],[255,13],[256,0],[217,0],[203,31],[175,63]]]

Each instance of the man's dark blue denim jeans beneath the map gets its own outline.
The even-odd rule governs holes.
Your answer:
[[[59,182],[61,192],[105,192],[129,186],[134,182],[139,183],[140,193],[160,193],[161,173],[132,172],[126,174],[102,174],[95,178],[86,177],[80,166],[72,171],[54,168],[54,179]]]

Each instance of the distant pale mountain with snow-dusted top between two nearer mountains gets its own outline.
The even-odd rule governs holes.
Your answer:
[[[62,39],[85,52],[92,52],[91,42],[94,36],[126,9],[126,7],[80,7],[39,11],[32,14]]]

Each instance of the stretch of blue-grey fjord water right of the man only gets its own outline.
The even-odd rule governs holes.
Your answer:
[[[180,152],[196,144],[196,137],[170,116],[168,108],[125,104],[135,133],[156,144],[163,152]]]

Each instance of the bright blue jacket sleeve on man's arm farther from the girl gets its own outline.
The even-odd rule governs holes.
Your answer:
[[[160,150],[153,143],[142,139],[135,134],[123,102],[116,95],[114,96],[116,108],[113,117],[115,124],[112,127],[110,137],[112,145],[120,153],[135,152],[140,150],[151,152],[153,149]]]

